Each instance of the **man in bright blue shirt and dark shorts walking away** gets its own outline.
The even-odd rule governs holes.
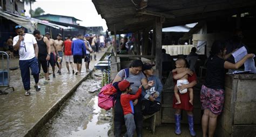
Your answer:
[[[77,66],[76,75],[81,75],[82,59],[86,53],[86,47],[83,41],[83,35],[78,34],[77,39],[72,42],[71,51],[75,66]]]

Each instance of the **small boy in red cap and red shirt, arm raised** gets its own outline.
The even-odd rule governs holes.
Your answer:
[[[124,120],[126,126],[126,134],[127,136],[133,136],[133,132],[136,129],[136,125],[134,122],[134,110],[133,110],[133,100],[139,98],[142,93],[142,85],[139,86],[138,91],[135,95],[130,95],[129,93],[132,91],[131,84],[129,81],[123,80],[118,83],[118,88],[122,91],[120,102],[124,111]]]

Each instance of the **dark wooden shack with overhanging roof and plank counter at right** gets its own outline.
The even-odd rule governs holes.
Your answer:
[[[109,31],[112,34],[134,33],[133,55],[118,55],[116,49],[118,45],[114,45],[114,57],[112,59],[112,77],[122,68],[119,57],[129,57],[130,59],[146,58],[156,64],[156,71],[159,78],[162,78],[162,28],[189,23],[198,22],[183,37],[184,39],[193,39],[193,46],[203,44],[201,54],[208,55],[212,42],[218,39],[229,39],[233,30],[242,29],[244,38],[242,42],[250,48],[251,53],[256,53],[255,35],[255,9],[256,1],[92,1],[98,13],[106,20]],[[114,4],[113,4],[114,3]],[[151,54],[148,55],[147,39],[149,31],[153,30]],[[116,38],[116,37],[114,37]],[[143,45],[140,48],[139,40],[143,39]],[[202,42],[203,41],[203,42]],[[142,50],[142,51],[141,51]],[[121,65],[120,65],[121,64]],[[203,64],[202,64],[203,65]],[[170,70],[171,71],[171,70]],[[203,69],[201,70],[203,71]],[[255,118],[251,117],[255,113],[255,93],[254,90],[244,90],[246,81],[250,81],[250,85],[256,84],[255,74],[236,75],[228,74],[226,82],[226,100],[223,114],[219,117],[217,126],[218,136],[247,136],[256,134]],[[242,79],[239,77],[242,77]],[[200,86],[204,82],[204,77],[198,78],[198,85],[194,88],[194,118],[195,123],[200,124],[201,105],[199,100]],[[246,86],[248,87],[248,86]],[[246,92],[246,93],[244,93]],[[244,93],[244,94],[243,94]],[[157,125],[161,123],[174,123],[174,110],[172,109],[173,83],[172,75],[167,78],[162,93],[161,111],[157,116]],[[245,97],[250,97],[247,101]],[[250,104],[246,108],[247,113],[239,113],[245,111],[241,105]],[[183,113],[181,122],[187,123],[185,113]],[[245,118],[245,120],[242,120]],[[249,122],[250,121],[250,122]]]

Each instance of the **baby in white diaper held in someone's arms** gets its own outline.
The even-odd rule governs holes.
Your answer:
[[[176,69],[172,70],[172,73],[177,72],[177,74],[183,73],[184,71],[186,71],[186,61],[185,59],[178,59],[176,60]],[[177,103],[176,104],[180,104],[180,97],[178,94],[178,86],[183,85],[183,84],[189,84],[189,82],[187,81],[188,75],[185,75],[184,77],[180,78],[179,80],[177,80],[177,84],[174,86],[174,95],[177,99]],[[190,104],[193,105],[193,88],[188,88],[188,89],[183,89],[183,90],[179,90],[180,93],[186,93],[187,90],[190,92]]]

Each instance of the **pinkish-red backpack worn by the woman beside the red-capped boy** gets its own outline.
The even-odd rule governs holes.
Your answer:
[[[125,78],[129,77],[129,68],[124,69]],[[104,110],[110,110],[114,106],[114,97],[117,89],[114,88],[112,83],[106,84],[100,89],[98,95],[98,106]]]

